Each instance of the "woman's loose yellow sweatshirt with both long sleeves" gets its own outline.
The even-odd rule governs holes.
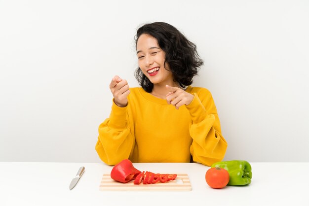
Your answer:
[[[227,142],[211,93],[189,86],[194,95],[179,109],[145,92],[130,88],[128,105],[114,101],[110,117],[99,126],[95,149],[103,162],[194,162],[210,166],[224,158]]]

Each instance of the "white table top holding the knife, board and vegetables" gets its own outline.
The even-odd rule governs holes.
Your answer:
[[[309,205],[309,163],[250,163],[248,186],[212,189],[209,167],[194,163],[135,163],[140,171],[188,173],[192,191],[99,191],[104,163],[0,162],[0,206],[260,206]],[[85,172],[73,190],[79,167]]]

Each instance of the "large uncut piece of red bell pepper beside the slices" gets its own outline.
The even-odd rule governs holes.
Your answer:
[[[126,183],[135,179],[139,173],[141,173],[141,171],[134,168],[130,160],[125,159],[114,166],[111,177],[118,182]]]

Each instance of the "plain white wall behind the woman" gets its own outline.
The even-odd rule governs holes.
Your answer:
[[[138,86],[134,35],[164,21],[205,62],[193,86],[213,94],[225,160],[308,162],[308,11],[308,0],[0,0],[0,161],[100,162],[111,78]]]

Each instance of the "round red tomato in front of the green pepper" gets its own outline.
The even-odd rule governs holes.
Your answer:
[[[205,174],[207,184],[216,189],[224,188],[230,181],[230,174],[223,168],[211,168]]]

